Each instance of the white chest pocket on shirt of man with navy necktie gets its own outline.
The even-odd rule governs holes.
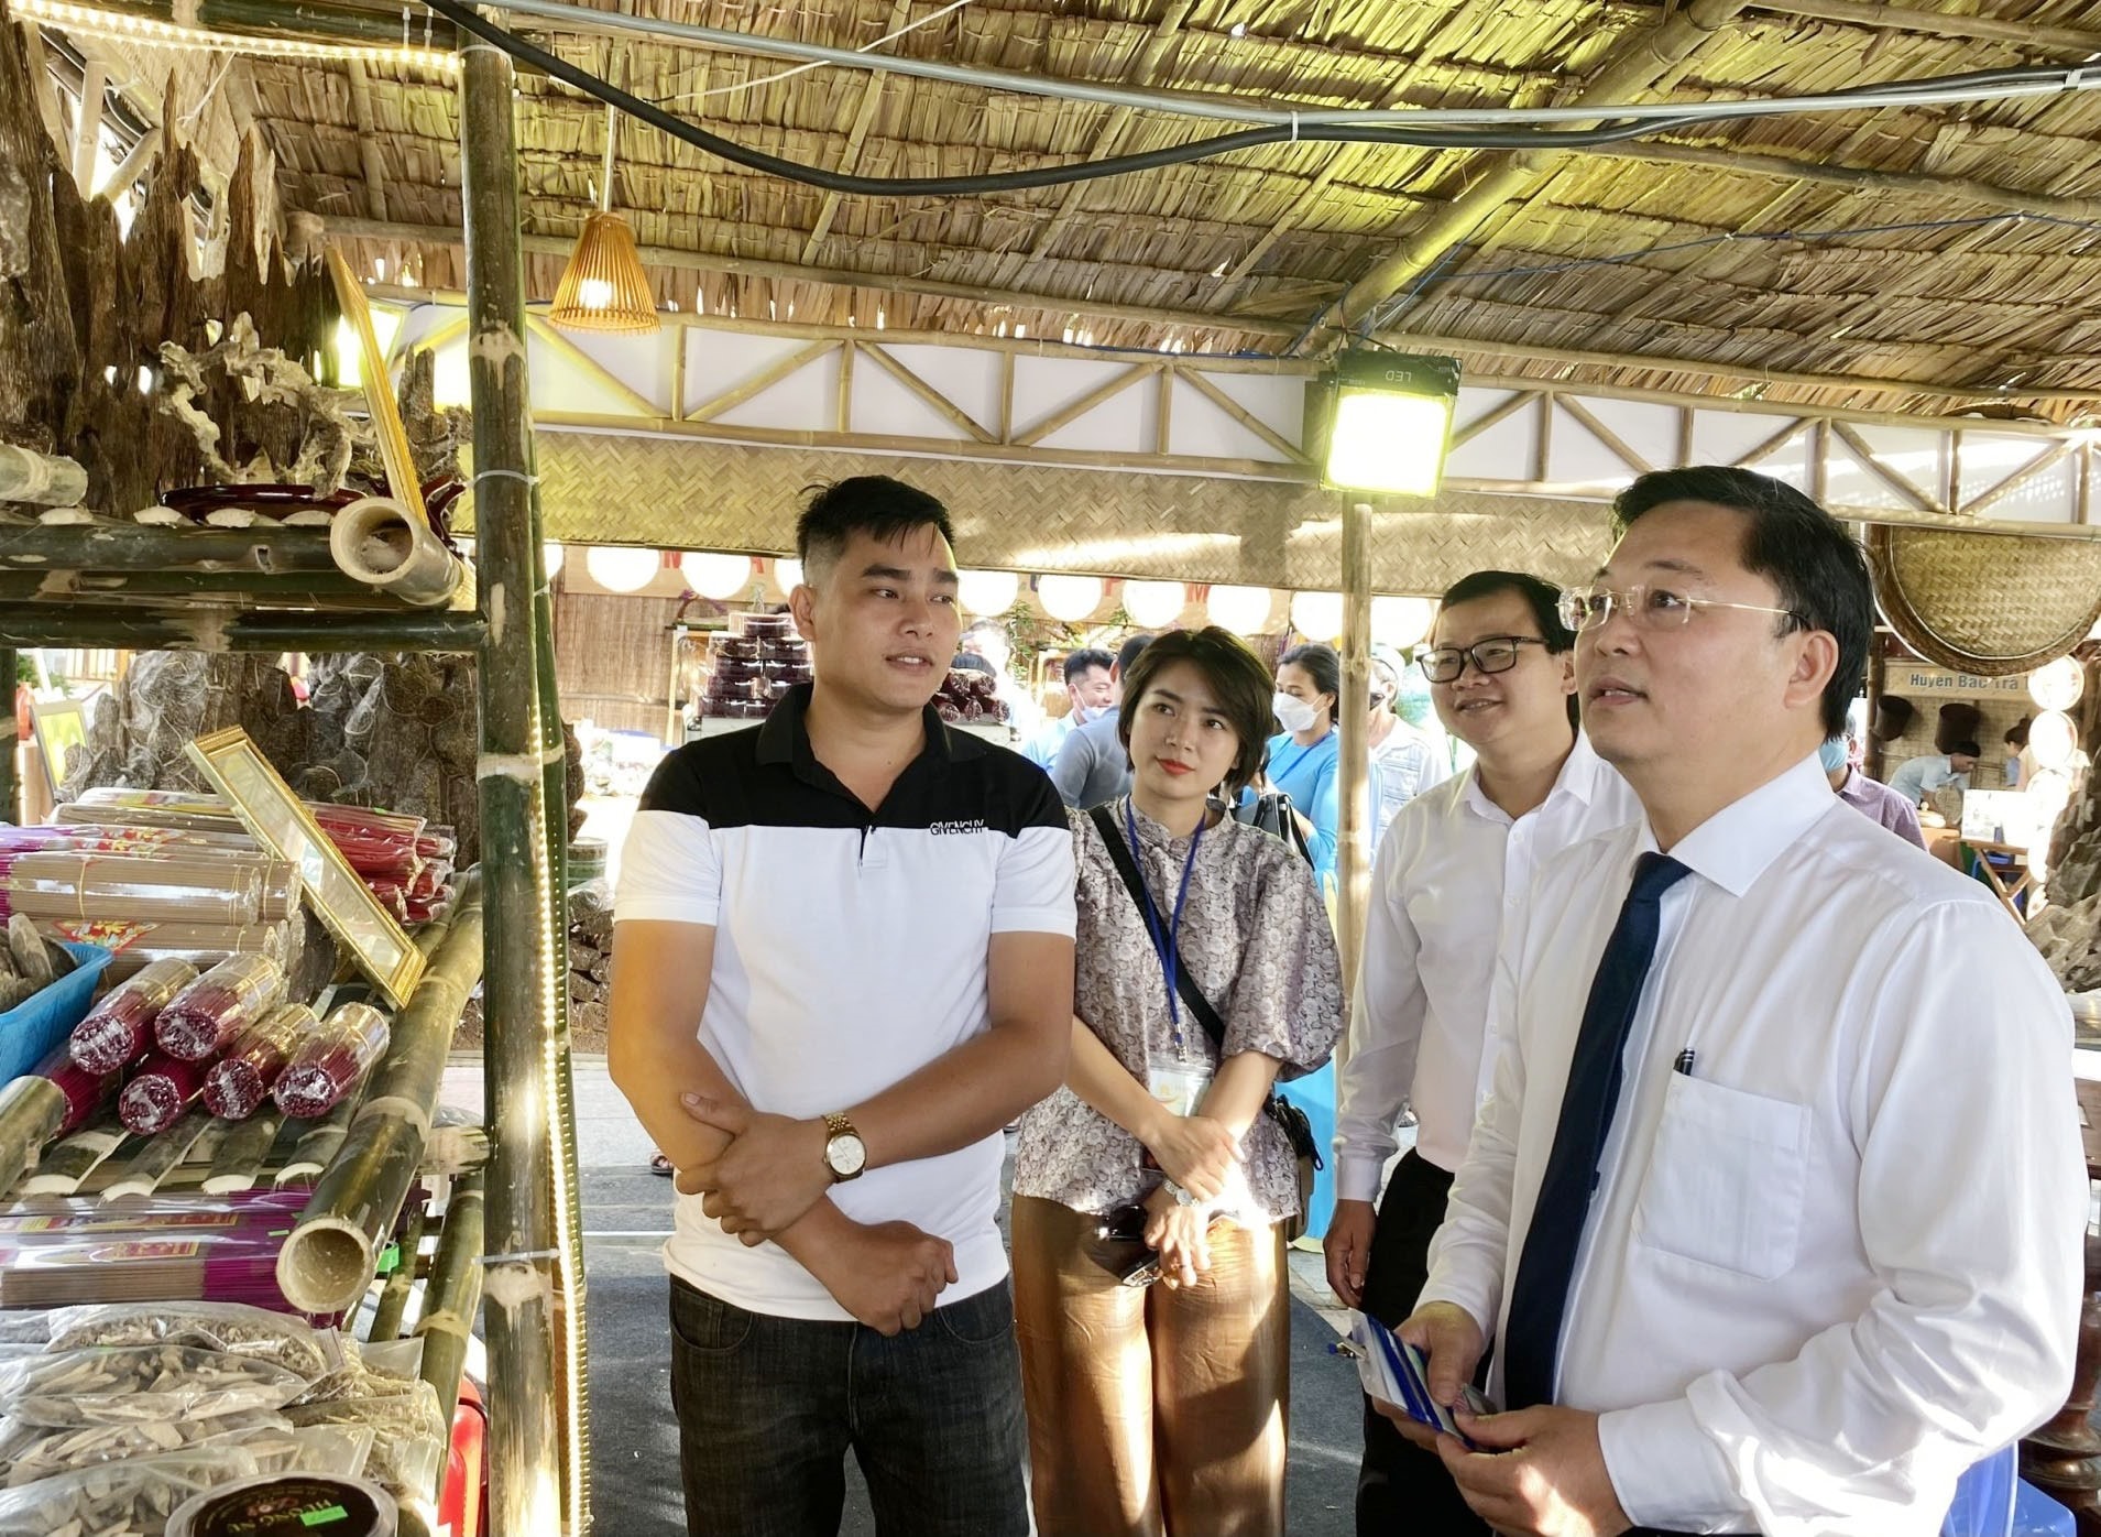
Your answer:
[[[1809,1186],[1809,1106],[1672,1072],[1637,1243],[1773,1280],[1794,1266]]]

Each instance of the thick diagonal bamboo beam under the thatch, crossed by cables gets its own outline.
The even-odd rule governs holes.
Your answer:
[[[1748,0],[1689,0],[1653,27],[1626,36],[1572,105],[1626,103],[1677,69],[1700,44],[1738,19]],[[1334,305],[1334,320],[1355,326],[1403,284],[1431,271],[1452,246],[1488,223],[1506,202],[1548,175],[1559,156],[1496,151],[1456,166],[1466,189],[1410,231],[1399,250],[1364,273]]]

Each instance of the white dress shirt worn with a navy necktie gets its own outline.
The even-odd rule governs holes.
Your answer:
[[[1542,864],[1422,1302],[1500,1325],[1590,978],[1653,847],[1637,822]],[[2063,992],[1983,885],[1840,805],[1815,757],[1670,854],[1691,877],[1662,898],[1555,1400],[1601,1413],[1637,1524],[1931,1537],[1962,1470],[2072,1381]]]

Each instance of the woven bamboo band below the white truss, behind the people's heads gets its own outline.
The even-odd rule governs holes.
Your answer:
[[[1315,486],[609,433],[536,444],[544,532],[567,542],[782,553],[805,488],[897,475],[948,503],[964,566],[1340,585],[1343,496]],[[1372,587],[1435,593],[1488,566],[1572,580],[1607,547],[1599,503],[1445,492],[1378,513]]]

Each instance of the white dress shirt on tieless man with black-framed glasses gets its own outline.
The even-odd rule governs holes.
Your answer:
[[[1582,734],[1555,788],[1517,820],[1479,770],[1401,807],[1372,864],[1349,1056],[1336,1083],[1336,1196],[1376,1201],[1393,1127],[1416,1110],[1416,1152],[1448,1173],[1466,1156],[1496,1058],[1483,1051],[1496,946],[1534,866],[1641,818],[1641,803]]]

